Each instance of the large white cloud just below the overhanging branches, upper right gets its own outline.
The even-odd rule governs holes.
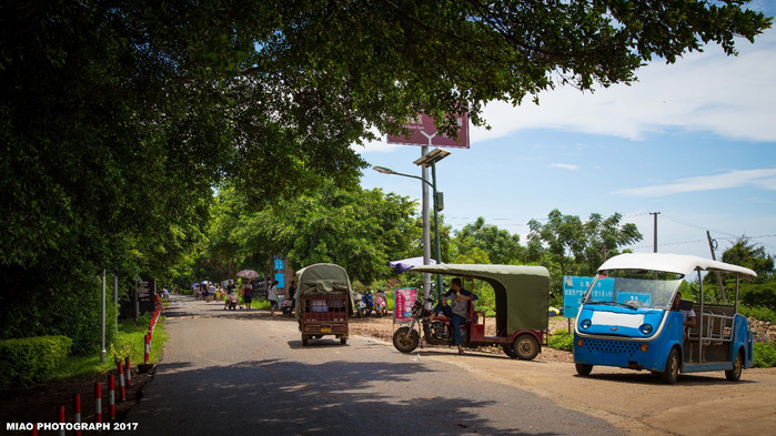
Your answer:
[[[717,45],[666,65],[653,61],[631,87],[618,84],[595,93],[558,88],[513,108],[492,102],[485,119],[492,130],[473,129],[472,142],[518,130],[552,129],[641,140],[651,131],[711,131],[725,138],[776,141],[776,30],[755,44],[739,42],[740,54],[726,57]]]

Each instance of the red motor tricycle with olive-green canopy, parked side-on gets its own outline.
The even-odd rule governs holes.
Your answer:
[[[412,272],[455,275],[464,282],[478,280],[494,291],[496,303],[495,336],[485,335],[485,313],[470,304],[470,317],[462,328],[462,345],[477,347],[501,346],[507,356],[531,361],[542,351],[544,331],[547,328],[550,273],[543,266],[440,264],[415,266]],[[464,283],[464,287],[471,288]],[[432,301],[433,303],[433,301]],[[413,352],[421,339],[421,332],[430,345],[452,345],[451,324],[442,314],[433,322],[424,302],[419,298],[412,307],[412,322],[393,334],[393,345],[402,353]]]

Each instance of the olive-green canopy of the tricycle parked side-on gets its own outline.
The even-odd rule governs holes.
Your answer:
[[[496,296],[496,329],[507,334],[545,329],[548,325],[550,273],[544,266],[440,264],[411,271],[482,280]]]

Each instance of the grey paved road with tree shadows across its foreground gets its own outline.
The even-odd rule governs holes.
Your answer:
[[[375,339],[303,347],[295,322],[174,296],[133,435],[618,435],[601,418],[472,375],[446,348],[407,356]],[[441,358],[435,358],[435,354]],[[501,358],[501,361],[508,361]],[[485,364],[487,359],[483,361]]]

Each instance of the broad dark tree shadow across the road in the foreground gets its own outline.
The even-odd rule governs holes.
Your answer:
[[[482,417],[481,409],[503,407],[496,402],[470,398],[455,386],[413,389],[419,377],[440,377],[419,363],[265,359],[192,371],[162,363],[158,371],[155,386],[127,418],[142,424],[138,435],[159,429],[238,434],[251,428],[266,435],[416,433],[413,429],[435,435],[524,434],[493,427]],[[551,434],[534,430],[530,433]]]

